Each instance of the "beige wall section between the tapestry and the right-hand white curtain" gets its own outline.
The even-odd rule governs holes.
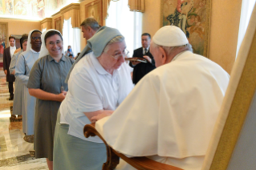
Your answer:
[[[212,0],[209,59],[228,73],[234,65],[242,0]]]

